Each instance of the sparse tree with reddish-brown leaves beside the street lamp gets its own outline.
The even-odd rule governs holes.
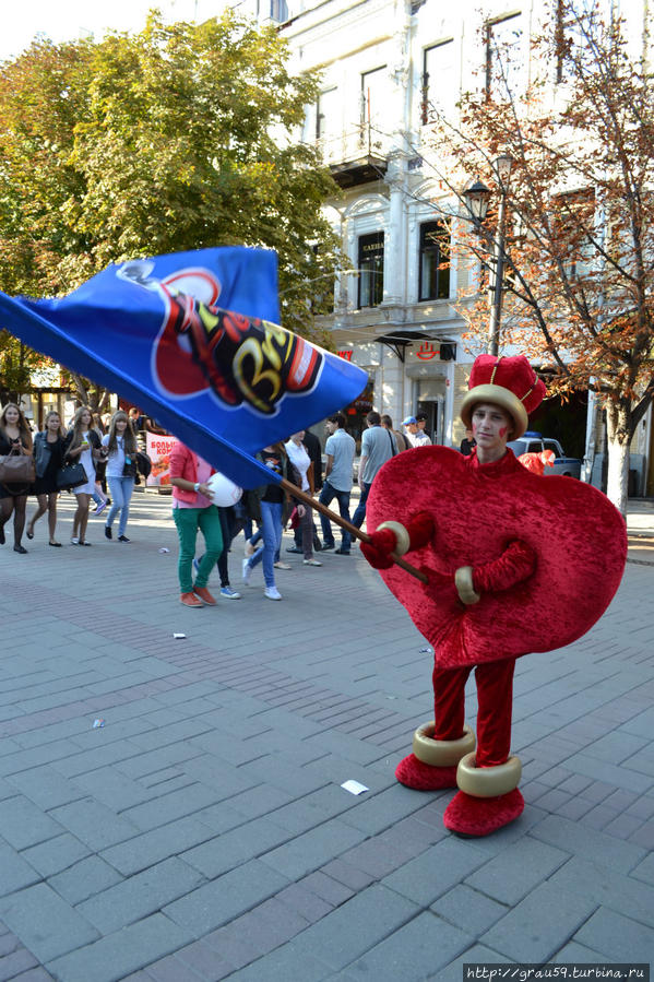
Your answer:
[[[463,97],[457,126],[435,125],[439,152],[450,155],[440,176],[459,197],[479,178],[501,190],[492,162],[513,157],[502,342],[551,366],[552,394],[597,394],[607,493],[622,513],[629,445],[654,394],[654,85],[628,37],[597,5],[578,12],[559,0],[533,39],[535,71],[522,93],[498,51],[500,78]],[[481,286],[492,281],[484,241],[496,222],[497,210],[481,237],[473,228],[461,237],[459,255],[485,264]],[[474,292],[462,309],[478,334],[488,308],[478,283]]]

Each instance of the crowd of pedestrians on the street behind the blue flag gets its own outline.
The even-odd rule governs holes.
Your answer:
[[[341,542],[336,543],[334,528],[324,514],[313,511],[299,497],[294,497],[280,483],[285,478],[305,494],[318,496],[321,505],[337,505],[338,513],[350,525],[360,529],[366,518],[366,502],[372,482],[383,464],[411,447],[429,446],[425,433],[427,417],[408,416],[403,422],[404,431],[393,428],[388,415],[376,411],[368,413],[367,427],[361,439],[358,465],[360,497],[350,517],[350,495],[355,481],[356,442],[347,431],[344,413],[335,413],[325,423],[324,475],[321,442],[309,430],[298,430],[286,440],[264,447],[258,459],[269,468],[271,482],[252,492],[246,492],[236,506],[218,507],[213,504],[207,482],[214,469],[189,448],[178,442],[170,459],[173,487],[173,517],[179,537],[179,590],[186,606],[214,605],[216,599],[207,583],[214,566],[221,578],[219,595],[238,600],[241,594],[229,582],[228,554],[235,536],[245,535],[245,556],[241,579],[250,585],[257,567],[261,565],[264,595],[269,600],[282,600],[275,576],[277,570],[290,569],[281,555],[282,532],[290,522],[295,530],[294,544],[287,552],[302,556],[302,565],[322,566],[317,553],[333,551],[348,556],[352,552],[352,532],[341,528]],[[119,410],[100,417],[88,406],[80,406],[68,428],[62,425],[58,412],[49,412],[44,429],[32,436],[31,426],[22,410],[9,403],[0,415],[0,457],[20,454],[34,462],[33,480],[21,485],[0,481],[0,544],[5,542],[4,528],[13,516],[14,551],[27,553],[23,534],[33,540],[39,519],[47,513],[48,542],[61,547],[57,540],[57,502],[69,490],[75,496],[71,545],[91,546],[87,540],[88,519],[100,516],[109,508],[104,525],[107,540],[129,543],[127,535],[134,483],[138,480],[136,459],[139,435],[146,430],[160,433],[156,423],[147,419],[136,407],[129,412]],[[464,441],[465,442],[465,441]],[[462,445],[462,452],[464,447]],[[469,450],[467,450],[469,452]],[[37,507],[27,517],[27,500],[36,498]],[[92,502],[95,510],[92,512]],[[322,542],[318,534],[318,523]],[[195,556],[198,533],[202,533],[204,547],[201,557]]]

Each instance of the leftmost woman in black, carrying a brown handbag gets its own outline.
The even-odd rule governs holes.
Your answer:
[[[4,545],[4,525],[13,511],[13,549],[14,553],[25,555],[27,549],[21,544],[21,540],[25,528],[27,494],[34,481],[34,458],[32,433],[15,402],[9,402],[0,415],[0,454],[5,455],[5,460],[0,461],[0,545]],[[16,460],[8,460],[10,457]],[[29,462],[21,458],[29,458]],[[31,473],[27,473],[28,470]],[[16,480],[9,480],[12,477]]]

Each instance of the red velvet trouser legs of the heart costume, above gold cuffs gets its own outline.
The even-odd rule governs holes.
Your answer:
[[[465,683],[473,666],[435,667],[433,740],[459,740],[465,719]],[[477,684],[477,767],[506,764],[511,750],[511,709],[515,659],[508,658],[475,667]]]

